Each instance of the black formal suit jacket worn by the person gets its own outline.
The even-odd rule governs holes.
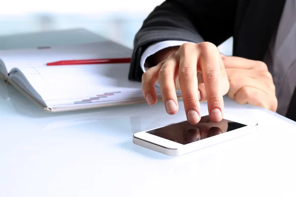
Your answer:
[[[198,42],[198,35],[217,46],[233,36],[234,56],[262,61],[284,5],[285,0],[166,0],[135,36],[128,78],[141,81],[140,59],[149,45],[163,40]],[[290,106],[295,110],[289,107],[289,118],[296,120],[296,106]]]

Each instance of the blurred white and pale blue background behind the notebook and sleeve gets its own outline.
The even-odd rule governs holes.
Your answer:
[[[133,47],[135,33],[153,8],[164,0],[5,0],[0,36],[84,28]],[[231,53],[231,40],[222,46]]]

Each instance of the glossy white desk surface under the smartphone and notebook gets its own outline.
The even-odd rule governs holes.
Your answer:
[[[226,99],[259,131],[182,157],[132,143],[179,104],[50,114],[0,82],[0,197],[296,196],[296,123],[265,110]]]

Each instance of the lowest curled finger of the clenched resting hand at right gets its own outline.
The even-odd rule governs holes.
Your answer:
[[[263,91],[254,87],[241,88],[235,95],[234,100],[239,104],[249,103],[254,106],[263,107],[274,112],[277,109],[276,97],[270,97]]]

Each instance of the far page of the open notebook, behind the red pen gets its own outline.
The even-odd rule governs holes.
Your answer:
[[[132,50],[110,40],[55,47],[0,51],[0,59],[8,71],[12,68],[44,66],[61,60],[129,58]]]

